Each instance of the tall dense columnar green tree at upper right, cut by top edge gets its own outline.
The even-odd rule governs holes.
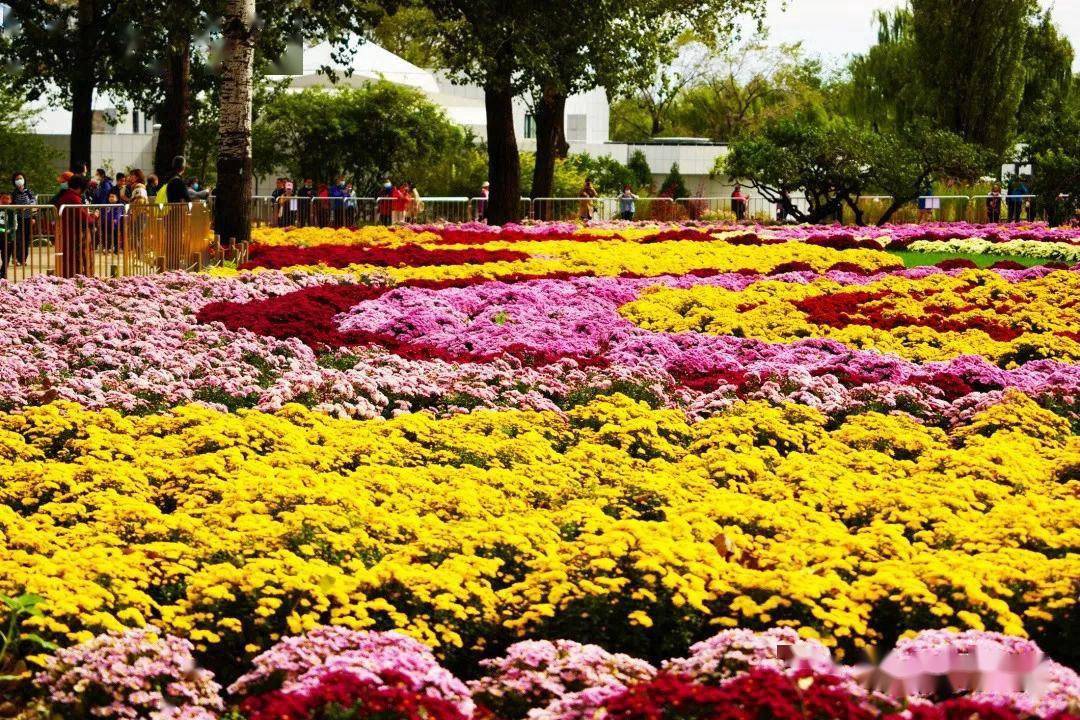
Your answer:
[[[942,127],[1009,149],[1037,11],[1037,0],[912,0],[916,68]]]

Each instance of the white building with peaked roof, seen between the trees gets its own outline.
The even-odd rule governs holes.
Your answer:
[[[296,54],[301,52],[302,56],[297,58]],[[291,79],[291,87],[294,90],[335,86],[335,82],[321,72],[326,67],[336,70],[336,86],[359,86],[383,79],[415,87],[442,107],[451,121],[469,128],[481,139],[487,136],[482,87],[455,84],[445,73],[417,67],[375,43],[360,44],[346,64],[334,58],[329,43],[303,47],[302,51],[297,47],[282,66],[293,68],[295,74],[278,77]],[[57,169],[63,169],[68,160],[71,113],[49,100],[32,104],[32,109],[37,112],[35,131],[58,150],[56,166]],[[565,122],[570,152],[608,155],[626,163],[636,150],[640,150],[653,171],[658,187],[671,166],[678,163],[692,194],[707,196],[730,192],[726,184],[714,182],[708,178],[716,159],[727,151],[723,145],[694,138],[634,145],[610,142],[610,106],[604,89],[569,97]],[[514,127],[518,147],[522,150],[535,150],[536,125],[526,98],[514,101]],[[141,167],[149,172],[153,166],[154,142],[156,127],[151,118],[108,94],[95,95],[94,137],[90,158],[92,168],[105,167],[117,172]]]

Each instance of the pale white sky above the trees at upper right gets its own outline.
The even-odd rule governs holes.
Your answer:
[[[1080,0],[1040,0],[1053,8],[1058,28],[1080,52]],[[895,8],[899,0],[769,0],[770,42],[802,41],[802,46],[826,62],[839,62],[845,55],[860,53],[874,44],[877,30],[872,23],[874,11]],[[1075,68],[1080,71],[1080,58]]]

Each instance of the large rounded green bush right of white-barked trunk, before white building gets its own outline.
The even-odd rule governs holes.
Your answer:
[[[384,81],[281,94],[264,109],[254,141],[260,175],[276,167],[322,181],[345,174],[361,194],[390,173],[424,194],[468,195],[486,174],[473,138],[441,108]]]

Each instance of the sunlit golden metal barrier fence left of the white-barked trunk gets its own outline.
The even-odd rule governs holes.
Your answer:
[[[202,266],[213,246],[203,203],[0,208],[0,276],[118,277]]]

